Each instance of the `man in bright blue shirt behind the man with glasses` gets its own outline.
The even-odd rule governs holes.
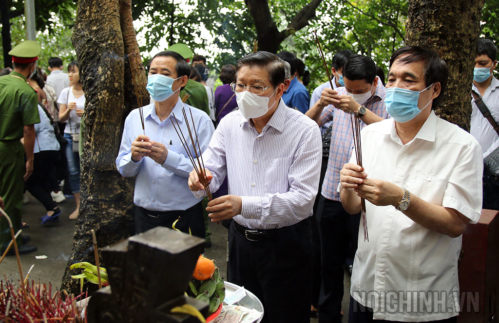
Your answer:
[[[288,51],[278,52],[277,56],[288,62],[291,67],[291,82],[282,94],[282,101],[288,107],[295,108],[301,113],[307,112],[310,103],[310,94],[308,94],[306,87],[298,82],[298,78],[296,77],[296,73],[298,73],[298,60],[296,56]]]

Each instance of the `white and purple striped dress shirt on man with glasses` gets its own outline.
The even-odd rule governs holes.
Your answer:
[[[312,214],[320,173],[319,127],[282,100],[260,134],[239,110],[228,114],[203,159],[213,173],[212,192],[228,176],[229,194],[241,196],[242,211],[234,217],[240,225],[275,229]]]

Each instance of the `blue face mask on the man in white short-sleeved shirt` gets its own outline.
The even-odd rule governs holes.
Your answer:
[[[419,94],[428,90],[432,85],[423,91],[413,91],[397,87],[387,88],[385,97],[386,112],[397,122],[411,121],[433,101],[428,102],[421,110],[418,108]]]

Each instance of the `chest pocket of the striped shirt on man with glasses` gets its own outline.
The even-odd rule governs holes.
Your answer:
[[[269,158],[265,166],[265,193],[285,193],[289,190],[289,167],[292,157]]]

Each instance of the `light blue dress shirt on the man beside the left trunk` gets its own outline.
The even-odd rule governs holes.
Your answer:
[[[187,124],[182,115],[182,107],[186,110],[191,132],[196,141],[191,120],[192,113],[201,151],[204,152],[208,147],[215,128],[210,117],[205,112],[182,103],[180,99],[177,101],[171,116],[174,119],[173,116],[175,115],[188,142],[189,149],[196,159],[194,146],[189,138]],[[135,205],[151,211],[186,210],[201,201],[201,199],[193,196],[187,184],[189,172],[193,169],[193,165],[182,146],[179,136],[175,132],[170,118],[166,118],[161,122],[156,114],[154,103],[142,109],[146,136],[150,140],[160,142],[168,148],[166,161],[163,165],[156,163],[149,157],[144,157],[139,162],[132,161],[132,142],[143,134],[139,109],[135,109],[130,112],[125,120],[120,151],[116,158],[116,168],[125,177],[137,175],[133,198]],[[176,122],[175,127],[177,127]]]

